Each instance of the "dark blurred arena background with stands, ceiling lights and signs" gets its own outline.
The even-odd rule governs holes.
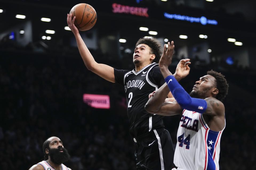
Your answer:
[[[162,45],[174,41],[172,73],[191,59],[180,82],[187,92],[207,70],[224,74],[220,169],[256,169],[255,1],[0,0],[1,170],[42,161],[50,136],[63,141],[73,170],[136,169],[124,88],[86,69],[67,27],[78,3],[97,12],[95,26],[80,34],[98,63],[132,70],[135,43],[154,36]],[[164,118],[174,146],[179,119]]]

